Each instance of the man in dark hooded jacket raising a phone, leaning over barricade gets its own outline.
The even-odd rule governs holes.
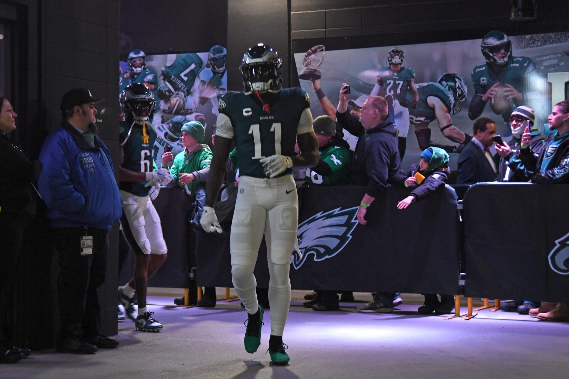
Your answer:
[[[389,179],[399,170],[401,159],[397,148],[397,130],[391,122],[386,99],[370,96],[364,102],[360,119],[348,113],[347,84],[340,89],[340,101],[336,119],[341,127],[358,137],[356,151],[350,168],[349,184],[365,185],[364,198],[357,211],[357,220],[365,225],[365,214],[372,202],[382,194]],[[378,291],[373,301],[358,306],[360,312],[392,312],[394,293]],[[401,298],[398,297],[398,304]]]

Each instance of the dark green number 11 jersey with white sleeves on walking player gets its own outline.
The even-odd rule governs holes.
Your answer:
[[[312,131],[310,97],[300,88],[282,89],[270,113],[243,92],[228,92],[219,102],[216,135],[235,140],[242,176],[266,178],[260,159],[295,155],[296,135]],[[292,169],[281,175],[290,174]]]

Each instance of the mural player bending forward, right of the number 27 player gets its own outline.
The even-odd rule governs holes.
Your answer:
[[[417,107],[409,111],[409,119],[415,124],[415,135],[420,149],[439,147],[449,153],[459,153],[472,137],[452,124],[451,115],[462,109],[462,102],[467,98],[467,86],[464,79],[457,74],[445,73],[434,82],[417,84],[419,101]],[[410,96],[407,94],[407,99]],[[437,145],[431,141],[429,123],[439,123],[443,135],[455,145]]]

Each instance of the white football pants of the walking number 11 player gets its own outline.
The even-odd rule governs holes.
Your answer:
[[[253,275],[265,234],[269,263],[271,335],[282,336],[290,306],[290,257],[298,231],[298,195],[292,175],[278,178],[242,176],[231,225],[233,286],[249,314],[258,310]]]

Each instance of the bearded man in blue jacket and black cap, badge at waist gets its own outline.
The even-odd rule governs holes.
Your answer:
[[[44,141],[38,186],[47,205],[61,272],[57,351],[94,353],[118,341],[100,335],[97,288],[105,281],[108,232],[122,214],[109,149],[96,135],[95,103],[84,88],[61,100],[63,121]]]

